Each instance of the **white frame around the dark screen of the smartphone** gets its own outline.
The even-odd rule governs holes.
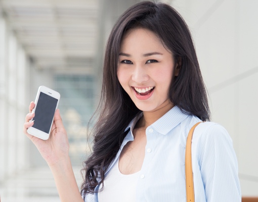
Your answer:
[[[56,106],[56,109],[55,109],[55,111],[56,111],[57,107],[58,107],[58,104],[59,104],[59,100],[60,100],[60,93],[55,91],[55,90],[52,90],[52,89],[50,89],[50,88],[48,88],[46,86],[41,85],[41,86],[38,87],[38,90],[37,90],[37,95],[36,95],[36,99],[35,99],[35,107],[33,108],[32,113],[35,112],[35,110],[36,110],[37,101],[38,101],[40,92],[43,92],[43,93],[45,93],[45,94],[47,94],[49,96],[52,96],[52,97],[57,99],[57,106]],[[32,120],[33,120],[33,118],[30,120],[30,122]],[[38,137],[38,138],[43,139],[43,140],[47,140],[49,138],[53,122],[54,122],[54,116],[53,116],[53,119],[52,119],[52,123],[51,123],[51,126],[50,126],[49,133],[46,133],[46,132],[41,131],[41,130],[38,130],[38,129],[34,128],[33,126],[29,127],[27,129],[27,132],[29,134],[35,136],[35,137]]]

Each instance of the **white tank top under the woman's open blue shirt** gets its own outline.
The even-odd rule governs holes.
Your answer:
[[[99,202],[134,202],[140,171],[124,175],[119,171],[119,158],[104,179],[104,189],[98,193]]]

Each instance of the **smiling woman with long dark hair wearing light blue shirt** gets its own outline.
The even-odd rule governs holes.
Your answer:
[[[209,120],[209,108],[189,29],[173,8],[141,2],[118,19],[107,42],[98,112],[83,199],[186,201],[186,138],[195,123]],[[26,132],[32,117],[24,132],[50,166],[61,201],[83,201],[59,110],[47,141]],[[241,201],[236,156],[222,126],[196,127],[192,166],[195,201]]]

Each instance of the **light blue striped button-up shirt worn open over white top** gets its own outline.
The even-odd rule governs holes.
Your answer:
[[[123,146],[134,140],[132,132],[140,117],[132,120],[126,128],[130,128],[130,131],[106,175],[112,169]],[[174,107],[146,129],[145,158],[136,187],[138,202],[186,201],[186,139],[191,127],[200,121]],[[192,166],[196,202],[241,201],[236,155],[232,140],[221,125],[205,122],[195,128]],[[99,186],[96,187],[98,189]],[[97,202],[98,193],[88,194],[85,201]]]

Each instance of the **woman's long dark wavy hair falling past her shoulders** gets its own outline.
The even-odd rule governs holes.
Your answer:
[[[140,112],[121,87],[117,78],[120,44],[126,31],[145,28],[154,32],[181,65],[180,73],[171,82],[169,98],[184,113],[209,120],[205,86],[190,31],[173,8],[162,3],[141,2],[127,11],[114,25],[107,41],[102,96],[98,121],[94,128],[93,153],[84,162],[85,179],[81,193],[94,193],[115,158],[130,121]]]

